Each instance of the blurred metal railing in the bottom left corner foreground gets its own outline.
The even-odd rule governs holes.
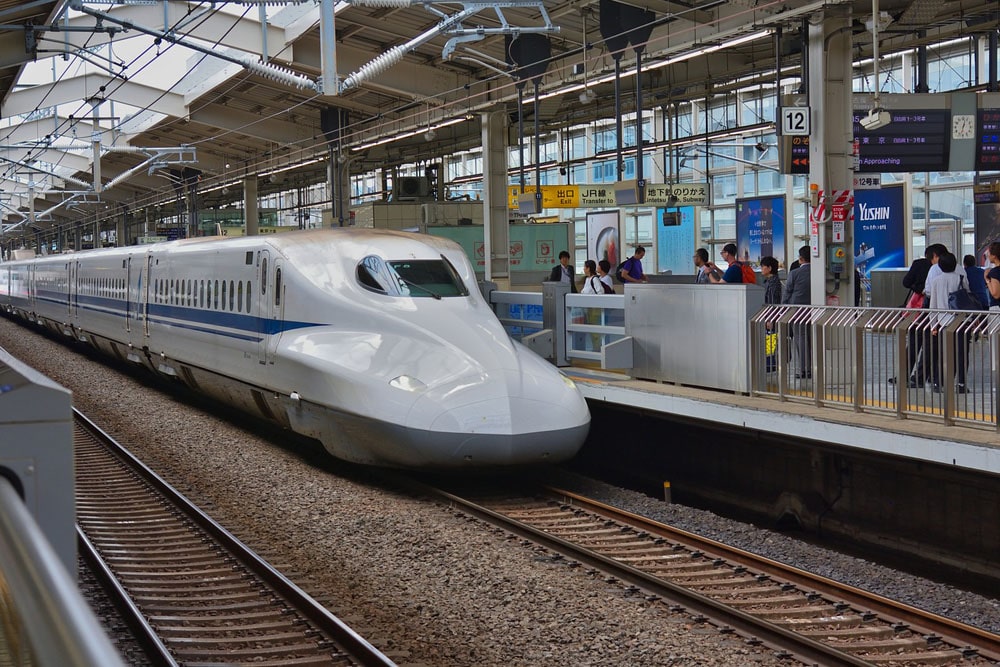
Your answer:
[[[0,664],[124,664],[21,497],[2,475]]]

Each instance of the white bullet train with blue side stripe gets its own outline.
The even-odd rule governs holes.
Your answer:
[[[504,331],[462,248],[424,234],[309,230],[9,261],[0,306],[347,461],[559,462],[590,426],[573,381]]]

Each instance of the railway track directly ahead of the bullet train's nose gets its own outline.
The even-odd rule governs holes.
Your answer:
[[[1000,664],[1000,636],[568,491],[424,492],[805,664]]]

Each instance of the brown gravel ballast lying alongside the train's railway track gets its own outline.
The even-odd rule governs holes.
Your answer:
[[[0,346],[72,390],[84,414],[401,665],[787,664],[453,510],[317,467],[301,440],[283,447],[251,418],[194,408],[6,318]],[[576,475],[560,483],[1000,631],[1000,601]]]

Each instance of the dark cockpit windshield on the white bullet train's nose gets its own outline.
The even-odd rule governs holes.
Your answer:
[[[455,267],[444,257],[384,260],[370,255],[358,264],[358,281],[372,291],[393,296],[440,299],[469,295]]]

